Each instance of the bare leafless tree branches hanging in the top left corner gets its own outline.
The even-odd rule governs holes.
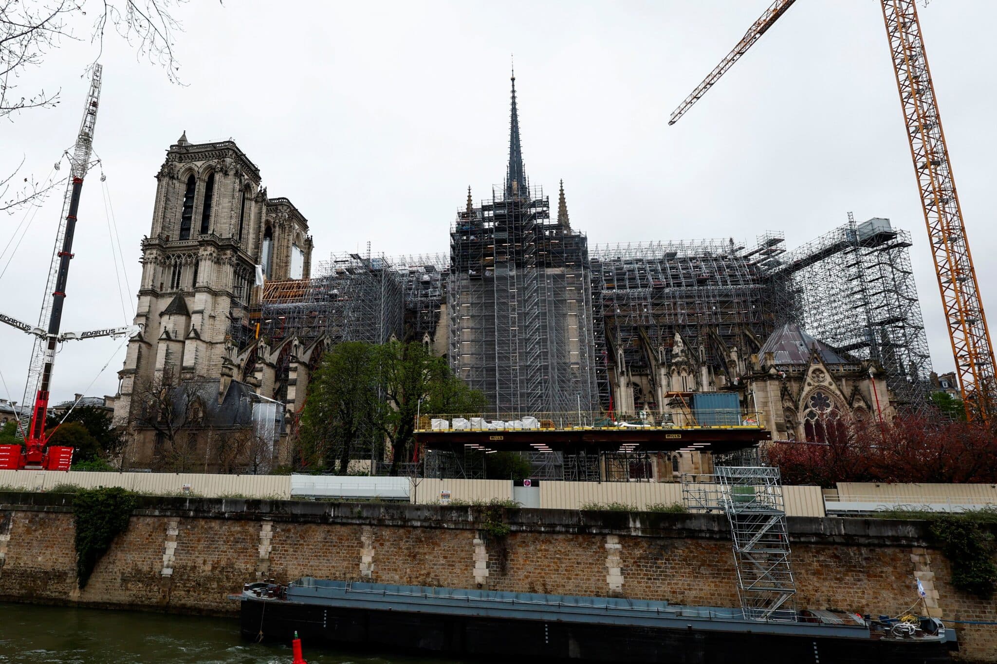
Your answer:
[[[96,63],[104,52],[107,32],[117,32],[136,50],[137,57],[166,69],[179,83],[179,63],[173,50],[182,30],[171,10],[185,0],[0,0],[0,118],[13,121],[23,111],[51,109],[60,103],[60,89],[37,88],[22,93],[20,84],[31,69],[63,40],[95,45]],[[93,11],[89,11],[93,10]],[[96,17],[96,18],[95,18]],[[92,67],[92,65],[91,65]],[[89,69],[89,68],[88,68]],[[58,182],[38,182],[7,166],[0,175],[0,211],[8,213],[26,205],[39,205]],[[11,169],[12,168],[12,169]]]

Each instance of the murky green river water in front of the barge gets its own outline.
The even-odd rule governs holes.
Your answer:
[[[308,664],[460,664],[304,643]],[[247,643],[235,618],[0,602],[0,663],[291,664],[290,644]]]

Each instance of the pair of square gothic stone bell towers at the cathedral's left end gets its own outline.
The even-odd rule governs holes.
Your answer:
[[[308,277],[308,222],[286,198],[267,198],[259,169],[230,140],[197,143],[186,133],[166,151],[153,225],[142,243],[135,322],[119,371],[115,420],[127,424],[133,394],[165,372],[180,381],[232,376],[237,341],[267,280]]]

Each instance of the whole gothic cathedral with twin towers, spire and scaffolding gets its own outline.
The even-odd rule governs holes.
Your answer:
[[[368,248],[333,255],[313,275],[307,219],[269,197],[233,141],[191,143],[184,132],[169,146],[142,244],[142,332],[115,401],[129,466],[290,463],[288,420],[323,352],[342,340],[422,340],[501,415],[685,426],[703,423],[697,403],[723,401],[736,423],[809,442],[827,442],[850,419],[895,416],[897,377],[909,369],[916,386],[930,366],[884,370],[877,357],[899,357],[900,344],[883,353],[874,340],[917,332],[916,294],[902,299],[916,316],[898,310],[882,330],[832,346],[796,325],[806,319],[802,291],[786,275],[824,269],[835,252],[902,254],[902,232],[876,219],[820,255],[783,259],[771,236],[753,249],[733,239],[589,246],[570,223],[563,182],[555,214],[530,186],[511,81],[504,181],[477,205],[469,188],[450,254],[436,262]],[[251,440],[223,449],[240,436]],[[659,480],[697,468],[688,459],[648,467],[642,477]]]

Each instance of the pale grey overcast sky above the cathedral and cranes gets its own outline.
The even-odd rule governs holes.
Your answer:
[[[478,200],[504,174],[514,53],[526,172],[552,196],[564,179],[572,225],[591,242],[734,237],[751,245],[782,230],[795,247],[846,222],[848,210],[858,220],[888,217],[913,234],[934,367],[950,370],[878,2],[798,2],[667,126],[769,4],[192,2],[176,12],[185,29],[176,49],[185,87],[109,40],[95,147],[132,287],[128,318],[154,175],[184,129],[193,142],[238,142],[270,196],[287,196],[308,218],[316,262],[368,240],[375,253],[446,252],[468,185]],[[986,202],[997,154],[995,95],[982,66],[997,3],[934,2],[920,18],[984,304],[997,321],[994,214]],[[81,74],[95,53],[87,43],[66,43],[27,73],[24,91],[61,88],[63,103],[0,125],[0,169],[23,154],[26,168],[45,177],[75,139]],[[84,185],[64,330],[125,322],[97,175]],[[0,279],[5,314],[37,318],[60,199],[40,210]],[[0,246],[20,220],[0,217]],[[0,371],[20,401],[30,338],[3,328],[0,339]],[[66,344],[53,399],[114,394],[119,346]]]

